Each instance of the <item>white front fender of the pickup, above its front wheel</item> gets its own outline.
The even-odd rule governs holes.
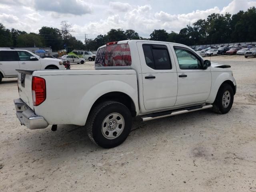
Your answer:
[[[221,84],[227,80],[230,80],[236,86],[236,81],[231,75],[231,71],[212,71],[212,88],[206,103],[214,102]]]

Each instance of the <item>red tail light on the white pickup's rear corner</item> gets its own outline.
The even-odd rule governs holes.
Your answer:
[[[34,106],[40,105],[46,99],[46,84],[43,78],[32,78],[32,98]]]

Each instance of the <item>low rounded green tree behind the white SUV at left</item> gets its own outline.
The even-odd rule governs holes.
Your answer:
[[[29,33],[21,34],[17,38],[17,46],[19,47],[41,47],[43,46],[42,40],[38,34]]]

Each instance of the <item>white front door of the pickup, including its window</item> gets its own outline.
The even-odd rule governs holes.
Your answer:
[[[190,49],[173,46],[178,73],[177,105],[204,102],[211,91],[210,68],[202,69],[202,59]]]

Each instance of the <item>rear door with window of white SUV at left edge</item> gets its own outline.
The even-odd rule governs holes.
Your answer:
[[[19,56],[17,51],[0,51],[0,69],[5,76],[18,75],[16,69],[19,69]]]

